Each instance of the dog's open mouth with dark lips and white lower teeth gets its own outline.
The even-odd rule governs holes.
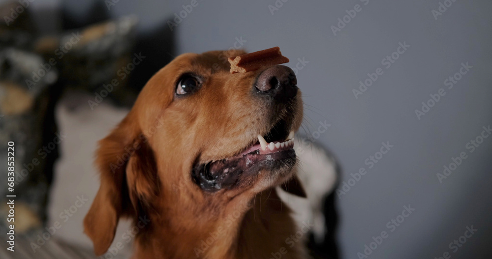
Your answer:
[[[296,163],[294,131],[287,131],[284,120],[277,122],[258,141],[244,148],[238,155],[218,161],[197,164],[192,177],[202,189],[214,191],[231,188],[238,184],[240,176],[247,176],[260,170],[287,171]]]

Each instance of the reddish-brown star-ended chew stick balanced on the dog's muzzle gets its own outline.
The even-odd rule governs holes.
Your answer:
[[[231,74],[246,73],[258,70],[262,66],[274,66],[289,62],[288,58],[282,56],[279,47],[228,58],[228,60],[231,63]]]

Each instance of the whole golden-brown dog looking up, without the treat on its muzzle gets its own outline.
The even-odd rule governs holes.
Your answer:
[[[84,219],[96,255],[120,218],[139,230],[133,258],[299,259],[299,230],[276,187],[305,197],[294,132],[303,102],[283,65],[231,74],[224,57],[183,54],[143,87],[99,141],[100,187]],[[295,241],[294,241],[295,240]]]

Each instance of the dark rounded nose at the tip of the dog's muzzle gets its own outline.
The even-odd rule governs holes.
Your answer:
[[[294,71],[287,66],[277,65],[265,69],[258,76],[255,84],[260,93],[286,102],[297,94],[297,78]]]

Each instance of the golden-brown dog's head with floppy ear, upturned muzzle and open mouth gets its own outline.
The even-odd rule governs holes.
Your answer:
[[[110,246],[121,216],[200,214],[206,221],[208,210],[220,213],[292,179],[291,139],[303,115],[297,79],[282,65],[230,74],[227,57],[242,54],[175,58],[99,142],[101,185],[84,221],[96,254]],[[289,187],[304,194],[298,183]]]

